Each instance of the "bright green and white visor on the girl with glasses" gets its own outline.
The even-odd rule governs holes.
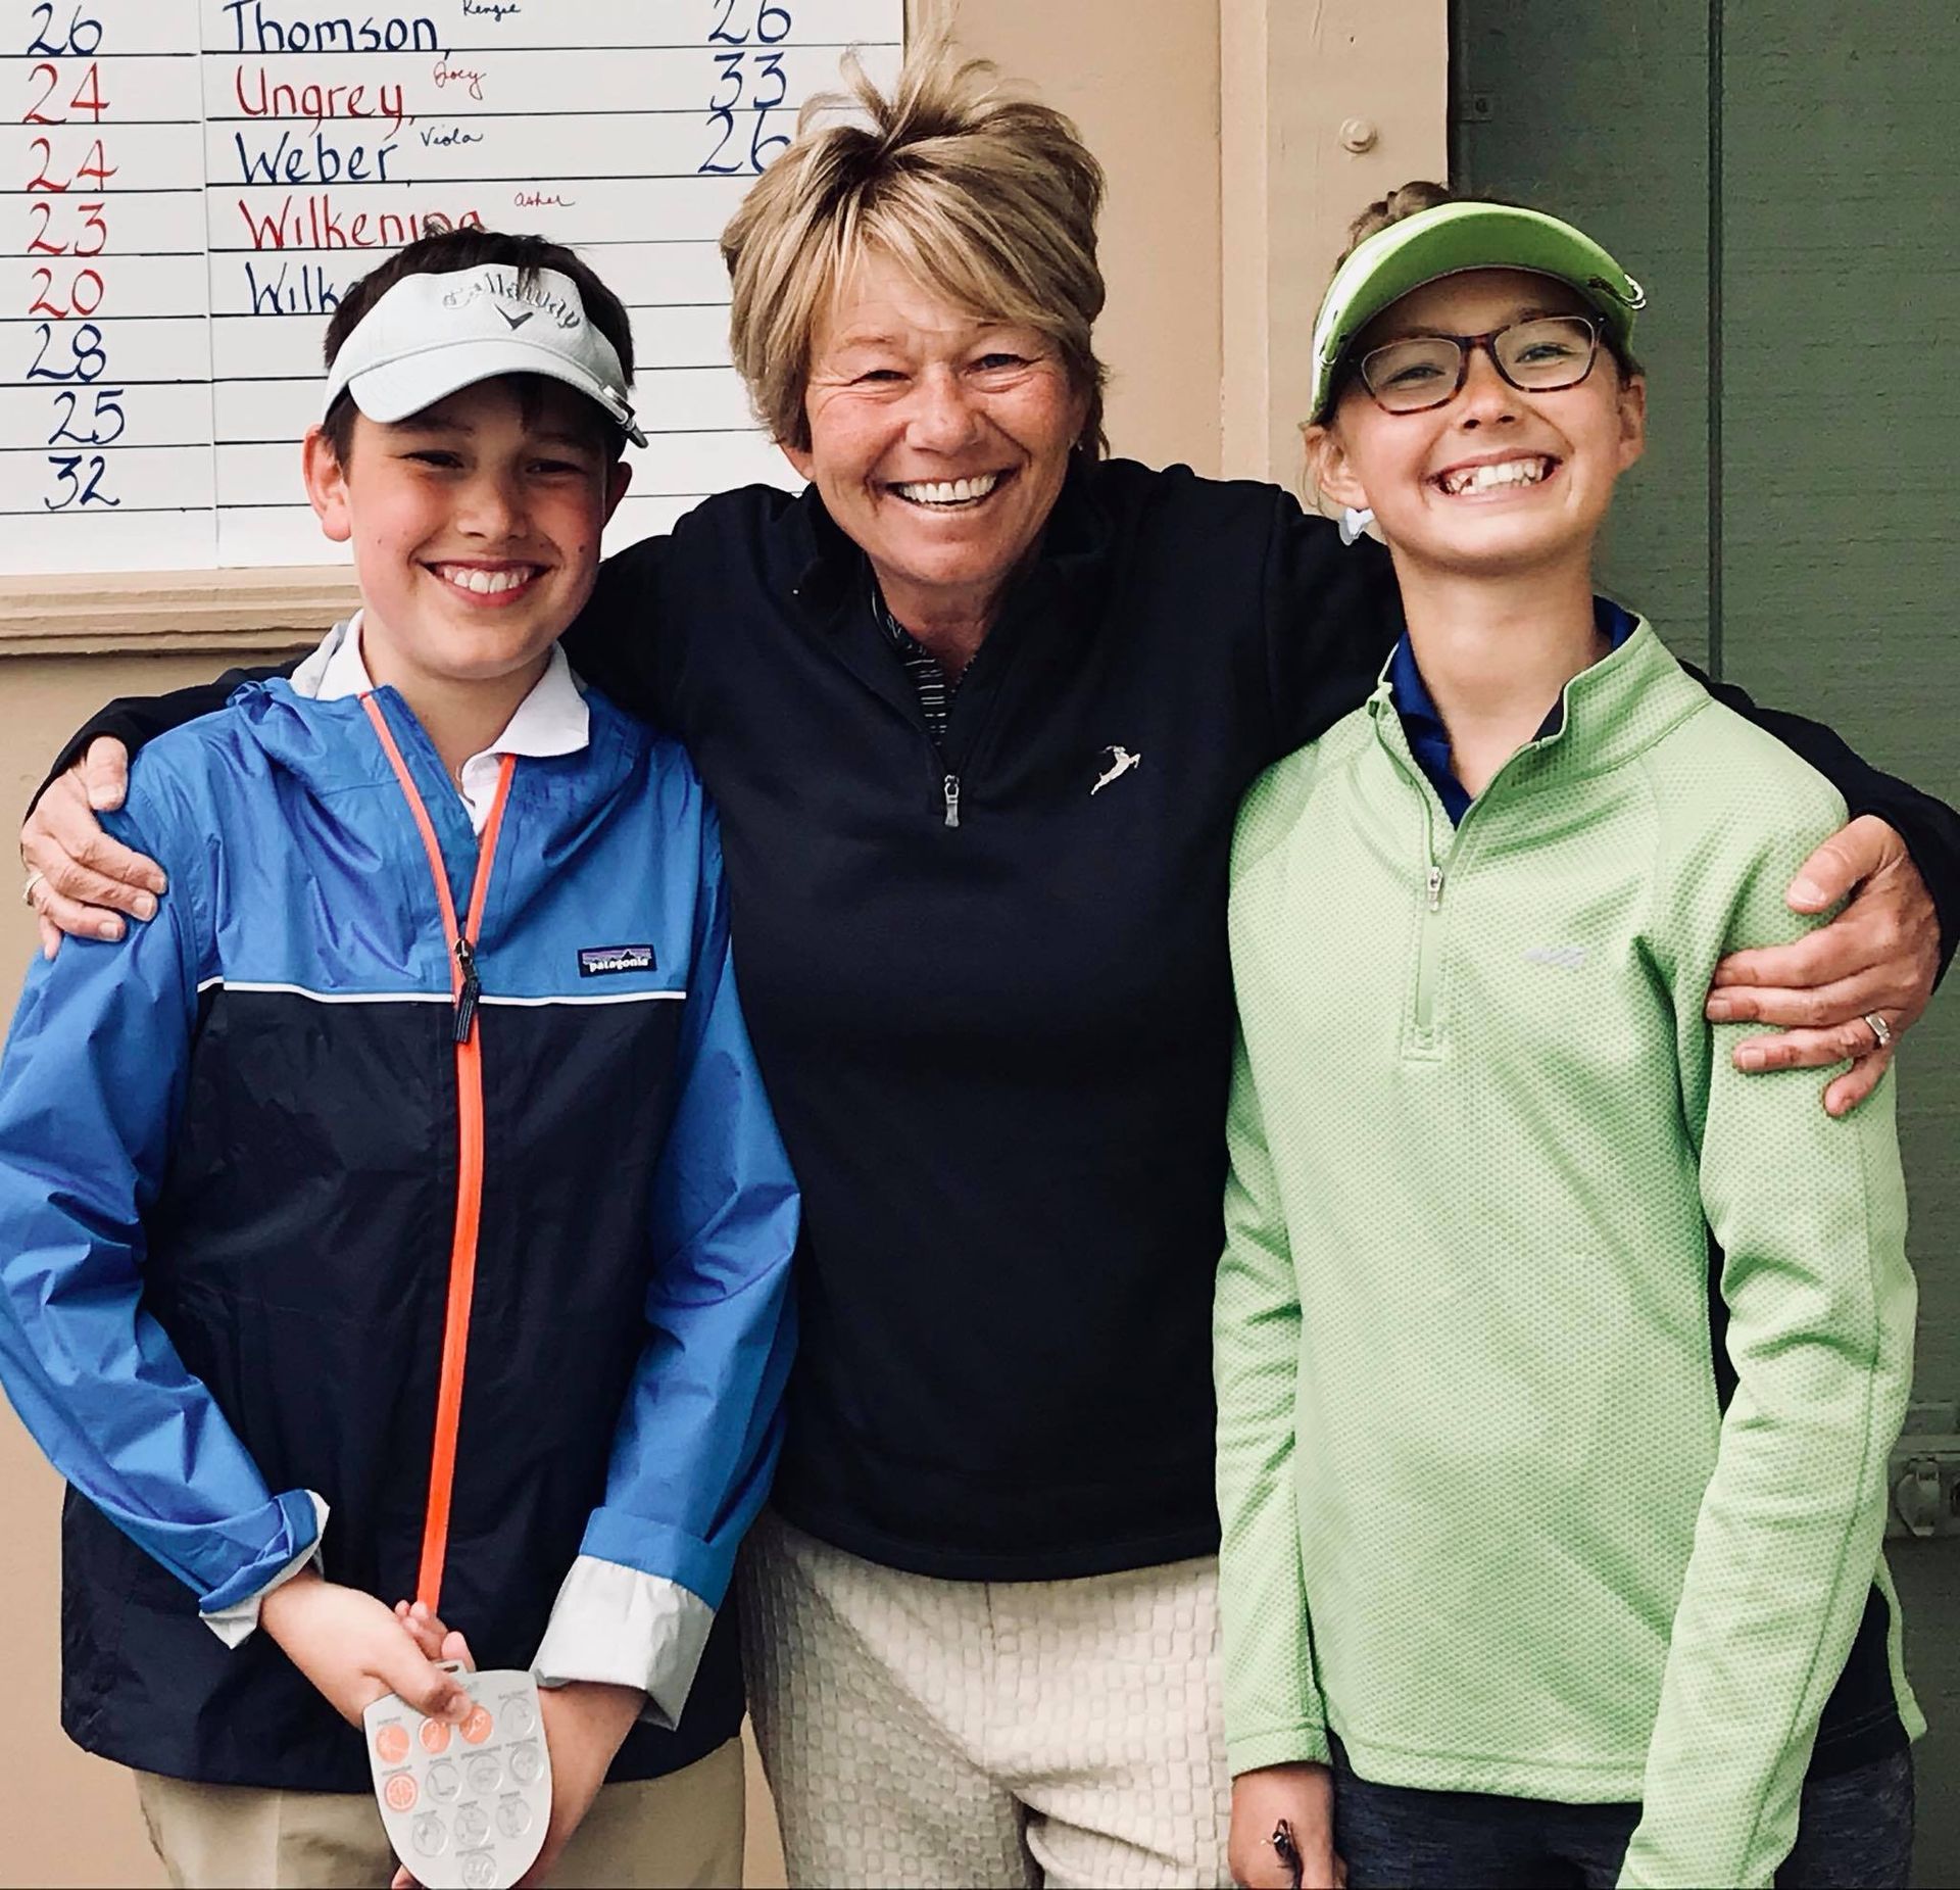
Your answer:
[[[1543,210],[1511,204],[1437,204],[1354,245],[1335,271],[1313,323],[1313,408],[1327,418],[1335,369],[1354,337],[1392,302],[1466,269],[1529,269],[1570,282],[1627,353],[1646,292],[1590,235]]]

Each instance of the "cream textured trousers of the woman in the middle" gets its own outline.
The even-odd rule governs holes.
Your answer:
[[[764,1516],[737,1592],[792,1884],[1231,1882],[1213,1559],[941,1582]]]

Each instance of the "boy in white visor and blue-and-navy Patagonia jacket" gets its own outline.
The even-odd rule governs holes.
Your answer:
[[[327,361],[306,484],[363,608],[143,753],[114,825],[172,898],[35,963],[0,1061],[63,1723],[137,1770],[174,1882],[382,1882],[349,1721],[461,1717],[447,1621],[547,1688],[541,1872],[733,1882],[717,1612],[798,1196],[713,810],[557,647],[641,439],[625,310],[455,231],[347,294]]]

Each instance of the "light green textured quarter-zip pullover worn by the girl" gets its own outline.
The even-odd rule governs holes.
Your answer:
[[[1715,961],[1844,806],[1644,623],[1452,829],[1384,682],[1239,818],[1217,1286],[1235,1772],[1644,1800],[1768,1884],[1876,1580],[1913,1280],[1887,1076],[1742,1076]],[[1721,1408],[1709,1229],[1725,1263]],[[1895,1616],[1895,1610],[1893,1610]],[[1897,1665],[1899,1712],[1925,1721]]]

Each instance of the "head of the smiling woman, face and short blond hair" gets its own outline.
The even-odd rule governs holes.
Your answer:
[[[929,165],[876,163],[876,139],[837,124],[772,165],[721,239],[762,422],[953,680],[1070,451],[1103,443],[1102,171],[1066,120],[990,78],[917,61],[884,100],[855,75],[857,104],[907,143],[960,139],[956,190]],[[808,241],[811,220],[825,241]]]

